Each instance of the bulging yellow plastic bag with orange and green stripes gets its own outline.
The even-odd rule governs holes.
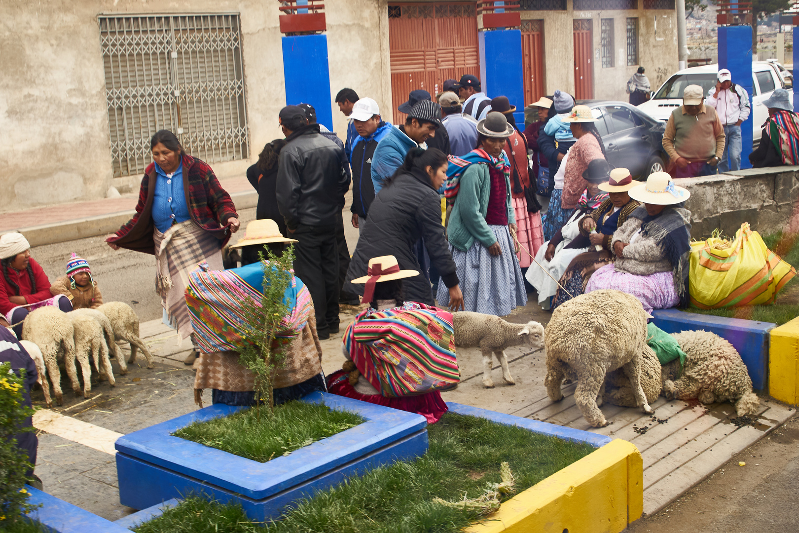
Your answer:
[[[796,273],[744,222],[733,241],[710,237],[691,243],[691,304],[701,309],[773,304]]]

